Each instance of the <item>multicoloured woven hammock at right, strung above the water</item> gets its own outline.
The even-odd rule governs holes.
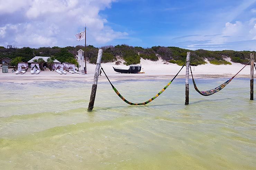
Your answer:
[[[250,61],[249,61],[249,62],[250,62]],[[249,64],[249,62],[248,62],[247,64]],[[247,64],[246,64],[240,71],[242,71],[242,70],[247,66]],[[238,72],[236,73],[236,75],[237,75],[240,71],[238,71]],[[230,81],[232,81],[232,80],[236,77],[236,75],[233,76],[231,79],[227,80],[226,82],[224,82],[223,84],[221,84],[220,86],[218,86],[218,87],[216,87],[216,88],[214,88],[214,89],[207,90],[207,91],[200,91],[200,90],[198,90],[198,88],[196,87],[196,84],[195,84],[195,80],[194,80],[194,78],[193,78],[193,74],[192,74],[191,67],[190,67],[190,72],[191,72],[192,81],[193,81],[193,84],[194,84],[195,91],[197,91],[197,92],[198,92],[199,94],[201,94],[202,96],[210,96],[210,95],[212,95],[212,94],[214,94],[214,93],[217,93],[218,91],[220,91],[221,89],[223,89],[224,87],[226,87],[227,84],[230,83]]]

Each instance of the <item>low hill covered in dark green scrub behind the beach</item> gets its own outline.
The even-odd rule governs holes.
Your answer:
[[[231,64],[226,61],[225,58],[229,57],[232,62],[238,62],[246,64],[249,61],[250,53],[255,53],[255,51],[233,51],[233,50],[223,50],[223,51],[209,51],[209,50],[188,50],[178,47],[161,47],[154,46],[151,48],[142,47],[132,47],[125,44],[117,46],[104,46],[103,49],[102,62],[113,62],[117,61],[118,58],[125,60],[126,65],[138,64],[140,58],[156,61],[159,58],[167,62],[176,63],[178,65],[185,64],[186,52],[191,52],[191,65],[198,66],[200,64],[205,64],[205,59],[210,61],[212,64]],[[76,52],[79,49],[84,50],[84,46],[76,47],[40,47],[40,48],[10,48],[0,47],[0,59],[3,57],[8,57],[15,59],[21,57],[23,62],[29,61],[35,56],[53,56],[60,62],[66,62],[73,59]],[[98,56],[98,48],[94,46],[86,46],[86,57],[89,59],[90,63],[96,63]]]

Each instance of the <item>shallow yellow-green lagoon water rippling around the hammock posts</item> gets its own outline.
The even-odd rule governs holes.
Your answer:
[[[196,79],[200,90],[226,79]],[[153,102],[129,106],[99,83],[0,83],[1,169],[256,169],[256,98],[249,79],[209,97],[184,79]],[[167,80],[116,81],[131,102],[155,96]],[[256,87],[254,87],[256,89]],[[256,92],[255,92],[256,93]]]

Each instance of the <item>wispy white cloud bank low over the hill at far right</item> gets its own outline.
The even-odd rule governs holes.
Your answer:
[[[175,38],[173,39],[175,40]],[[177,42],[177,46],[191,50],[255,50],[256,48],[256,19],[248,21],[227,22],[219,32],[214,35],[183,36],[183,42]]]

